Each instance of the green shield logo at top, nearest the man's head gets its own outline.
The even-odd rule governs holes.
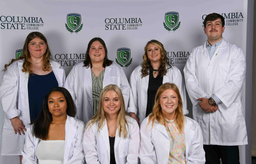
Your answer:
[[[176,31],[180,27],[179,21],[179,13],[178,12],[167,12],[165,13],[165,22],[163,22],[163,26],[166,30]]]

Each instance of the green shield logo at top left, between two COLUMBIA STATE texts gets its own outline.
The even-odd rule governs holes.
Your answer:
[[[67,23],[65,23],[66,29],[71,32],[75,32],[76,34],[82,30],[83,23],[81,24],[81,15],[78,13],[70,13],[67,15]]]

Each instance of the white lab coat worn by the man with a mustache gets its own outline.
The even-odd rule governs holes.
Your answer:
[[[222,40],[210,60],[206,43],[189,55],[184,76],[193,104],[193,119],[203,132],[206,145],[248,144],[241,104],[241,89],[245,80],[245,57],[240,47]],[[218,110],[206,113],[197,98],[215,94],[221,101]]]

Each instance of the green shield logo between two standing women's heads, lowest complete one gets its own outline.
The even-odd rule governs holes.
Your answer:
[[[131,50],[129,48],[117,49],[116,63],[121,67],[128,67],[132,63]]]

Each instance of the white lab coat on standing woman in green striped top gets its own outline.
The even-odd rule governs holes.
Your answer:
[[[77,108],[77,117],[86,124],[93,117],[93,83],[91,68],[83,66],[83,63],[75,65],[65,82],[65,88],[71,94]],[[122,67],[116,63],[105,68],[103,88],[109,84],[120,87],[127,109],[130,86]]]

